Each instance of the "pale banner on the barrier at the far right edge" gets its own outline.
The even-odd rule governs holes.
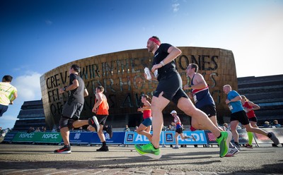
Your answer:
[[[275,133],[277,136],[279,143],[283,143],[283,128],[261,128],[263,131],[266,131],[267,133],[272,132]],[[260,143],[270,143],[272,144],[272,140],[268,138],[265,135],[261,135],[259,133],[253,133],[253,136],[258,144]]]

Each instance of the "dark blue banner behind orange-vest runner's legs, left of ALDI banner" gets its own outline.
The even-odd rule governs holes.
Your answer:
[[[105,135],[105,141],[109,145],[122,145],[124,144],[125,139],[125,132],[113,132],[112,138],[110,138],[110,135],[108,133],[104,133]],[[98,137],[97,133],[93,133],[91,136],[91,144],[101,144],[100,139]]]

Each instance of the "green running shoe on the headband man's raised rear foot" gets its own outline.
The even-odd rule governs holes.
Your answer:
[[[216,138],[216,142],[220,147],[220,157],[225,157],[225,155],[227,155],[227,153],[229,152],[229,143],[231,141],[231,138],[231,131],[221,131],[221,138]]]

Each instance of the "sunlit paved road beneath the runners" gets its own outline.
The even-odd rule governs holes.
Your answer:
[[[72,146],[55,155],[54,145],[0,144],[0,174],[283,174],[283,147],[242,148],[235,157],[219,157],[218,147],[163,147],[161,159],[141,157],[133,146]]]

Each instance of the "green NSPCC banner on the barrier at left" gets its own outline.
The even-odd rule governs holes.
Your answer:
[[[60,133],[23,133],[19,132],[13,138],[13,142],[35,142],[35,143],[61,143]]]

